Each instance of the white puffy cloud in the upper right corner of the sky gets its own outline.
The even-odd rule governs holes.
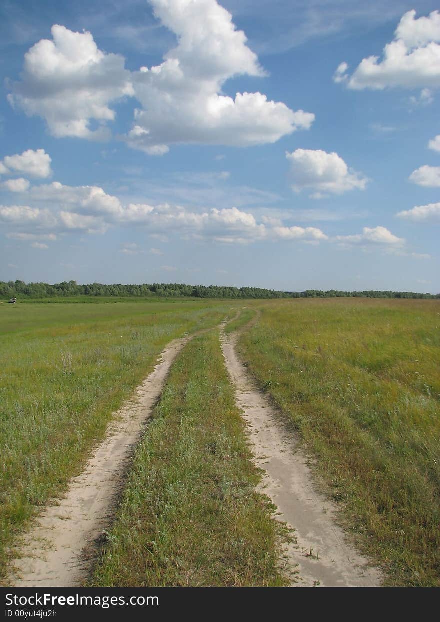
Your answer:
[[[341,63],[334,80],[346,81],[352,89],[388,87],[436,88],[440,86],[440,13],[416,18],[407,11],[395,31],[395,39],[385,45],[383,58],[364,58],[351,76]]]

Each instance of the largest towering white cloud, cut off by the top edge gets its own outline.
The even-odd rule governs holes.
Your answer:
[[[126,137],[129,146],[163,155],[172,143],[248,146],[308,129],[314,114],[293,111],[263,93],[222,94],[237,75],[264,76],[231,14],[216,0],[151,0],[155,15],[178,44],[163,63],[133,74],[142,108]]]

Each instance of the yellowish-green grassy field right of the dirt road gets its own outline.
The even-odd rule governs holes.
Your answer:
[[[389,585],[440,585],[440,302],[262,303],[239,349]]]

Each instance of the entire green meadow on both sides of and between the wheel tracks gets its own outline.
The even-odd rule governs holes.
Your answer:
[[[81,302],[0,304],[0,577],[165,345],[229,318],[385,584],[440,585],[440,301]],[[173,364],[90,585],[285,585],[259,479],[211,330]]]

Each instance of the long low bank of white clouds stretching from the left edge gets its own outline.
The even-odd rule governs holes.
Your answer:
[[[12,239],[39,242],[71,231],[104,233],[110,227],[142,226],[157,239],[177,234],[186,239],[210,239],[221,243],[298,240],[318,243],[328,239],[315,227],[284,226],[280,218],[237,207],[194,210],[162,203],[129,203],[98,186],[67,186],[60,182],[32,187],[26,193],[32,205],[0,206],[0,222],[14,227]],[[40,207],[41,206],[41,207]],[[135,243],[122,245],[121,253],[145,253]],[[162,254],[157,248],[151,254]]]

